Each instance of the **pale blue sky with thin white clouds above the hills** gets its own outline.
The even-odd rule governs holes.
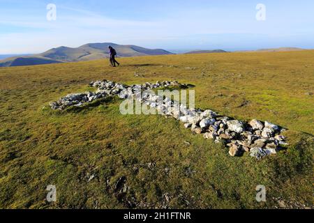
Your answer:
[[[47,4],[57,6],[48,21]],[[257,21],[256,6],[266,6]],[[170,50],[314,49],[313,0],[0,0],[0,54],[112,42]]]

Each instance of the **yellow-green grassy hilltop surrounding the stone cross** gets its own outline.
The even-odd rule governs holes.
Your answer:
[[[0,208],[313,207],[314,51],[188,54],[0,68]],[[80,111],[49,102],[92,80],[194,84],[196,106],[282,125],[290,146],[230,157],[162,116],[122,116],[117,98]],[[57,202],[47,203],[47,185]],[[265,185],[267,202],[255,200]]]

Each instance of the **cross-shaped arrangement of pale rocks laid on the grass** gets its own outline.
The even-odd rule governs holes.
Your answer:
[[[121,99],[136,98],[143,104],[156,108],[158,114],[181,121],[185,128],[189,128],[195,134],[203,134],[205,139],[212,139],[216,143],[225,143],[230,148],[229,154],[233,157],[250,153],[252,157],[261,159],[264,156],[276,154],[282,146],[287,145],[285,137],[281,134],[284,129],[273,123],[256,119],[245,123],[227,116],[220,116],[210,109],[188,109],[185,105],[179,105],[170,98],[154,93],[142,93],[170,86],[186,89],[188,87],[186,84],[166,81],[128,86],[103,80],[91,82],[89,86],[96,87],[98,90],[94,93],[66,95],[57,102],[50,103],[51,108],[63,110],[70,106],[82,106],[84,103],[117,95]]]

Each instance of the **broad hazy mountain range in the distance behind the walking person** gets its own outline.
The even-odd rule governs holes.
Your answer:
[[[154,56],[172,54],[164,49],[146,49],[135,45],[118,45],[115,43],[89,43],[77,48],[58,47],[31,56],[14,56],[0,61],[0,67],[31,66],[49,63],[91,61],[109,57],[108,45],[117,50],[118,56]]]

